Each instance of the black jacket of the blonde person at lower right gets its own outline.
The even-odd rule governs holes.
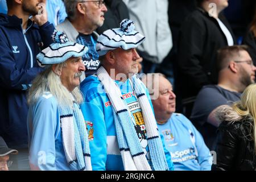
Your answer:
[[[256,167],[251,130],[254,122],[251,118],[241,117],[231,107],[224,107],[218,112],[222,123],[217,131],[217,164],[212,165],[212,170],[253,171]]]

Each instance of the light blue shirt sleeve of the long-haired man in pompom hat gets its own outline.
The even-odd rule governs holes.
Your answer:
[[[55,134],[59,111],[52,98],[42,98],[33,106],[31,123],[32,126],[28,127],[31,128],[31,169],[55,171]]]

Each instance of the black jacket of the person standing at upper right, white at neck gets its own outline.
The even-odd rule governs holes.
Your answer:
[[[233,32],[221,14],[218,17]],[[218,22],[203,9],[197,9],[185,19],[180,28],[178,65],[183,98],[196,96],[207,84],[217,84],[216,53],[228,46]]]

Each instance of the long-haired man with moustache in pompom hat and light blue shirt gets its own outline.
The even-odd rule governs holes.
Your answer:
[[[87,47],[55,31],[53,42],[37,56],[46,67],[28,93],[28,144],[32,170],[91,170],[88,133],[78,88]]]

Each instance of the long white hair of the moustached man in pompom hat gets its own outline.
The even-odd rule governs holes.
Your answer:
[[[55,69],[62,69],[65,65],[65,62],[60,63]],[[77,86],[72,92],[69,92],[69,90],[61,83],[60,76],[53,72],[52,66],[46,68],[46,70],[40,73],[32,82],[32,86],[27,97],[28,105],[35,104],[45,92],[50,92],[56,98],[59,106],[61,107],[73,107],[73,98],[75,98],[75,101],[78,104],[81,104],[83,101],[79,86]]]

